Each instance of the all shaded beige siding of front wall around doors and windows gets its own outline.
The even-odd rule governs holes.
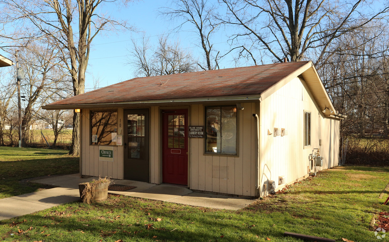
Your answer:
[[[244,110],[238,114],[238,155],[204,154],[205,140],[189,138],[188,186],[194,190],[234,195],[256,196],[254,167],[255,123],[252,113],[256,113],[259,103],[244,103]],[[205,106],[193,104],[188,110],[188,125],[205,126]],[[187,106],[188,107],[188,106]],[[161,110],[169,107],[151,106],[150,118],[150,182],[162,183],[162,150],[161,150]],[[101,111],[101,109],[99,109]],[[118,119],[123,127],[123,108],[118,108]],[[81,113],[81,160],[82,175],[109,176],[123,179],[123,146],[114,147],[114,161],[99,161],[99,145],[90,145],[90,110]],[[118,120],[118,122],[119,122]],[[119,125],[119,123],[118,123]],[[119,131],[119,127],[118,127]],[[123,129],[122,129],[123,133]],[[118,133],[118,135],[120,135]]]

